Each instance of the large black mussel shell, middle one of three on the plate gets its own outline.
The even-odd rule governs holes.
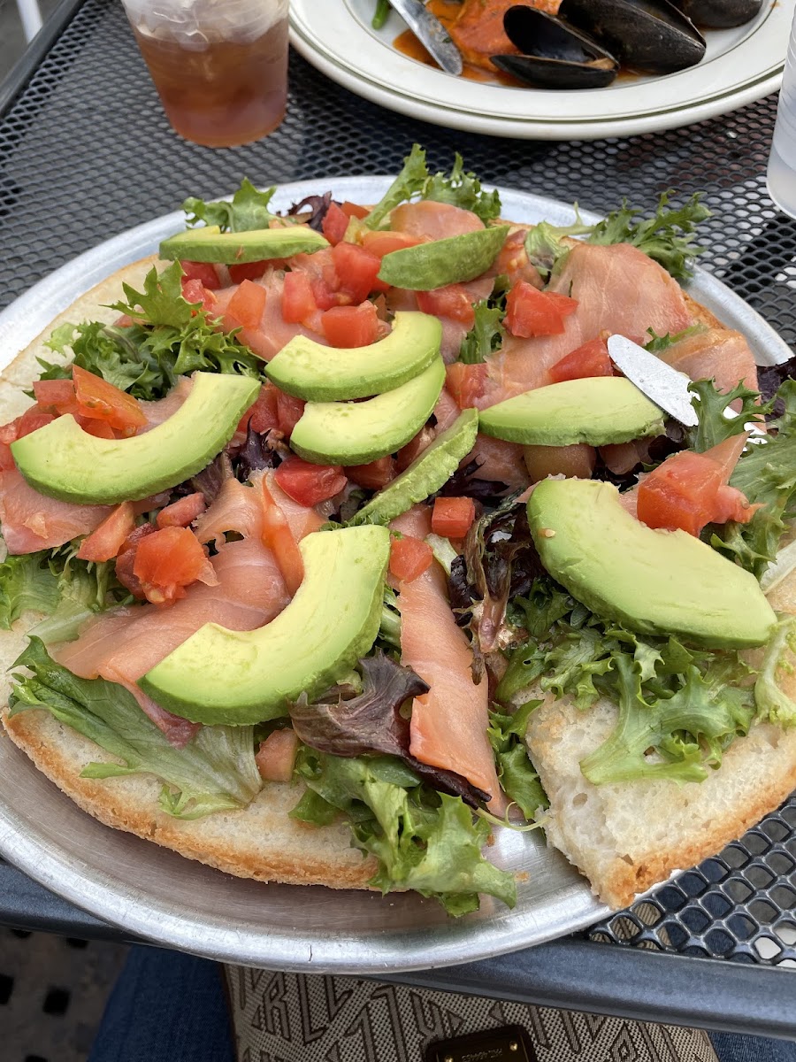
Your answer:
[[[564,0],[558,17],[634,70],[674,73],[705,55],[703,35],[668,0]]]

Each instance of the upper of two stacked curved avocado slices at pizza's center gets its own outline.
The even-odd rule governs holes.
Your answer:
[[[267,363],[265,372],[278,388],[298,398],[367,398],[392,391],[428,369],[442,341],[438,318],[399,311],[391,333],[368,346],[335,348],[296,336]]]

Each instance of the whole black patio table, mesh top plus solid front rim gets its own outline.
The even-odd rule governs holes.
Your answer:
[[[86,247],[174,209],[186,194],[392,173],[409,145],[434,169],[460,151],[484,181],[608,210],[662,191],[704,193],[700,266],[796,344],[796,222],[765,192],[776,98],[682,130],[537,142],[452,132],[382,110],[291,56],[283,125],[213,152],[162,116],[121,5],[63,0],[0,85],[0,308]],[[144,157],[145,166],[137,165]],[[119,939],[0,863],[0,923]],[[629,910],[564,941],[400,979],[504,998],[796,1038],[796,799]]]

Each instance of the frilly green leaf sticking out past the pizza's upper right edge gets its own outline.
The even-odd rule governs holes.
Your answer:
[[[694,229],[710,217],[710,210],[699,202],[700,192],[674,209],[669,207],[669,195],[670,192],[661,193],[655,215],[646,221],[636,221],[640,211],[628,207],[627,200],[623,200],[619,210],[594,225],[588,242],[631,243],[676,280],[688,280],[693,275],[689,260],[705,250],[693,245]]]

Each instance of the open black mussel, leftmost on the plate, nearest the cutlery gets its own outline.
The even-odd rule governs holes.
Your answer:
[[[537,88],[603,88],[617,76],[619,63],[604,48],[535,7],[509,7],[503,27],[521,55],[492,55],[506,73]]]

